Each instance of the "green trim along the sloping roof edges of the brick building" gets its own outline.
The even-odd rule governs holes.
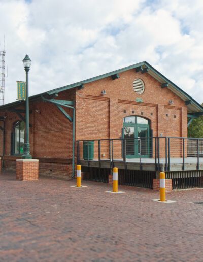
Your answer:
[[[35,100],[35,99],[40,98],[42,95],[51,95],[51,94],[55,94],[57,92],[63,92],[65,90],[69,90],[69,89],[72,89],[72,88],[75,88],[75,87],[80,89],[80,88],[83,88],[85,86],[85,84],[88,84],[88,83],[91,83],[91,82],[94,82],[94,81],[97,81],[97,80],[100,80],[100,79],[103,79],[103,78],[106,78],[106,77],[112,77],[112,76],[115,76],[119,73],[130,70],[130,69],[136,69],[136,71],[144,70],[144,72],[148,72],[148,73],[150,73],[150,71],[152,71],[154,74],[156,74],[159,78],[162,79],[163,83],[168,83],[168,85],[171,85],[175,90],[177,90],[179,93],[184,95],[186,100],[191,101],[193,105],[197,106],[198,109],[201,112],[203,112],[203,107],[198,102],[196,102],[189,94],[187,94],[180,87],[175,85],[172,81],[170,81],[165,76],[163,76],[160,72],[158,72],[155,68],[153,68],[146,61],[136,63],[136,64],[132,64],[132,65],[129,65],[128,67],[124,67],[124,68],[121,68],[121,69],[118,69],[118,70],[115,70],[115,71],[112,71],[112,72],[109,72],[109,73],[106,73],[106,74],[103,74],[103,75],[92,77],[92,78],[89,78],[89,79],[86,79],[86,80],[83,80],[83,81],[80,81],[80,82],[77,82],[77,83],[74,83],[74,84],[55,88],[55,89],[52,89],[50,91],[47,91],[47,92],[44,92],[44,93],[41,93],[41,94],[33,95],[33,96],[29,97],[29,99]],[[11,107],[11,106],[20,106],[20,105],[23,105],[23,104],[24,104],[24,102],[21,102],[21,101],[12,102],[12,103],[0,106],[0,110],[6,109],[6,108]]]

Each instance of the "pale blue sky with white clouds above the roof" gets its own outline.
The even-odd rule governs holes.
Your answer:
[[[147,61],[203,102],[202,0],[0,0],[5,104]],[[7,72],[7,69],[6,69]]]

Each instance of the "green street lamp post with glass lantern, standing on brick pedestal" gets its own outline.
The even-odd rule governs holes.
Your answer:
[[[25,58],[22,60],[25,72],[26,72],[26,109],[25,109],[25,119],[26,119],[26,136],[25,136],[25,143],[24,143],[24,154],[22,155],[23,159],[32,159],[29,151],[29,83],[28,83],[28,72],[31,65],[31,59],[26,54]]]

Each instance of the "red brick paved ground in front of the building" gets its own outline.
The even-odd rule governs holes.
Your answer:
[[[158,192],[0,175],[0,261],[202,261],[203,190]]]

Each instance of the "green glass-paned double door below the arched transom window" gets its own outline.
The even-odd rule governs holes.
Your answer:
[[[141,151],[141,156],[143,158],[149,158],[150,157],[149,125],[124,123],[123,128],[124,128],[123,137],[126,138],[126,158],[139,158],[140,151]]]

